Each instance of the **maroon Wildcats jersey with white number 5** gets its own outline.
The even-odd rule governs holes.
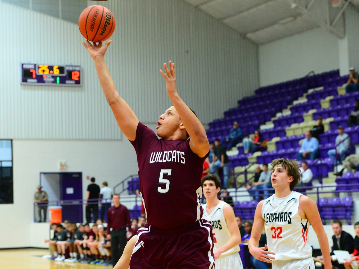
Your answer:
[[[164,140],[139,122],[136,139],[140,192],[147,222],[168,229],[202,217],[201,175],[206,156],[192,152],[190,140]]]

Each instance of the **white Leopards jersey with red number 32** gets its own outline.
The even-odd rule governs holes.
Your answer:
[[[307,240],[310,223],[298,214],[300,195],[303,194],[292,191],[285,198],[277,198],[273,194],[263,204],[268,251],[275,253],[275,260],[312,256],[312,247]]]

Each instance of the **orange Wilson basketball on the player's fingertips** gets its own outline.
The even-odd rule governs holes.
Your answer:
[[[88,41],[102,42],[115,30],[115,18],[112,12],[101,5],[85,8],[79,17],[80,33]]]

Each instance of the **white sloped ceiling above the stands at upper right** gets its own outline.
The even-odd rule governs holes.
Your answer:
[[[272,42],[316,27],[322,27],[342,38],[345,36],[344,20],[341,19],[339,22],[337,16],[344,14],[342,11],[349,4],[347,1],[359,9],[359,0],[339,0],[340,5],[335,7],[331,0],[184,1],[222,21],[257,44]],[[334,20],[336,25],[333,26],[331,23]]]

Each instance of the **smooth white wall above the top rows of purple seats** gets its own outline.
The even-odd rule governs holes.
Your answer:
[[[338,69],[338,40],[316,28],[259,46],[260,86]]]

